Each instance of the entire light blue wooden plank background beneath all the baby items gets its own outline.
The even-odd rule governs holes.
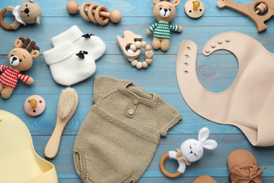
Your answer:
[[[237,31],[249,34],[259,40],[270,52],[274,52],[274,20],[268,21],[268,30],[259,34],[254,23],[243,15],[228,9],[218,10],[216,8],[217,0],[204,0],[206,7],[204,16],[194,20],[185,14],[184,0],[177,8],[177,17],[174,20],[174,24],[183,25],[183,33],[171,35],[171,46],[167,53],[155,51],[153,63],[148,69],[136,70],[122,55],[115,37],[117,34],[122,36],[124,30],[132,30],[136,34],[143,35],[143,39],[151,44],[152,37],[145,35],[145,30],[155,23],[152,16],[154,6],[150,0],[94,0],[94,3],[103,4],[110,10],[117,8],[122,11],[123,18],[119,24],[110,23],[105,27],[87,23],[79,14],[69,15],[66,11],[67,2],[37,0],[43,10],[41,25],[22,26],[17,31],[11,32],[0,29],[0,64],[8,64],[6,55],[11,51],[13,42],[18,37],[30,37],[41,48],[41,56],[35,59],[32,69],[25,72],[34,78],[34,84],[27,86],[19,82],[10,99],[0,99],[0,109],[18,115],[25,122],[32,134],[34,149],[41,157],[44,157],[44,147],[56,124],[56,108],[60,92],[65,88],[53,81],[42,53],[52,48],[51,37],[67,30],[72,25],[78,25],[82,32],[96,34],[107,45],[105,55],[96,62],[95,75],[110,75],[131,80],[147,91],[162,96],[183,115],[183,120],[169,132],[167,138],[161,139],[152,163],[139,182],[192,182],[195,177],[204,174],[213,176],[218,182],[228,182],[226,158],[234,149],[247,149],[254,153],[261,168],[266,167],[263,172],[263,181],[274,182],[274,148],[254,147],[249,144],[237,127],[209,122],[191,111],[179,92],[175,68],[176,54],[181,42],[184,39],[195,41],[199,47],[197,74],[200,82],[211,92],[221,92],[230,87],[230,84],[235,80],[237,61],[235,56],[227,51],[218,51],[209,57],[203,56],[202,47],[204,44],[215,34]],[[84,0],[79,1],[80,4],[83,2]],[[240,0],[237,2],[243,3]],[[245,4],[251,2],[251,0],[244,1]],[[19,0],[0,1],[0,8],[21,3],[22,1]],[[5,16],[6,23],[11,23],[12,20],[11,15]],[[73,86],[79,94],[79,107],[65,129],[58,156],[54,160],[50,160],[56,165],[60,182],[81,182],[74,170],[72,146],[79,127],[92,106],[93,81],[94,76]],[[37,118],[29,118],[23,111],[25,99],[32,94],[39,94],[46,99],[46,111]],[[181,177],[176,179],[164,177],[159,170],[161,156],[180,146],[185,139],[197,138],[197,132],[202,127],[209,127],[210,138],[218,141],[218,148],[214,151],[205,151],[204,158],[190,165]],[[176,161],[170,160],[166,164],[171,171],[175,171],[177,168]]]

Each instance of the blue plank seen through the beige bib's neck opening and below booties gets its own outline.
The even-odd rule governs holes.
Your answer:
[[[139,60],[141,61],[142,58],[144,59],[144,56],[141,56]],[[6,56],[0,56],[0,60],[3,61],[1,63],[7,65],[5,59]],[[122,55],[103,56],[96,62],[96,68],[96,73],[93,76],[72,86],[79,94],[93,94],[95,75],[109,75],[130,80],[148,92],[180,94],[176,80],[176,55],[154,56],[152,65],[146,70],[133,68]],[[43,56],[34,61],[30,70],[22,73],[32,76],[34,84],[27,85],[19,81],[13,95],[60,94],[61,90],[65,88],[54,82]],[[233,84],[237,76],[236,58],[233,55],[212,55],[209,57],[199,55],[197,57],[197,75],[206,89],[211,92],[222,92]],[[0,99],[0,101],[4,100]]]

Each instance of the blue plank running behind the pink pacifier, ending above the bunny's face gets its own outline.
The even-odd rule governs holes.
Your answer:
[[[183,115],[183,120],[169,132],[169,134],[197,134],[202,127],[209,127],[212,134],[241,134],[237,127],[231,125],[218,125],[210,122],[194,113],[183,101],[181,94],[159,94],[171,106],[174,106]],[[23,103],[27,95],[15,95],[0,103],[0,108],[14,113],[25,122],[32,135],[51,135],[56,125],[56,109],[58,104],[57,95],[42,95],[46,100],[46,110],[36,118],[30,118],[23,111]],[[75,135],[78,133],[82,122],[91,108],[91,94],[79,95],[79,106],[76,113],[67,124],[64,134]],[[16,104],[14,104],[16,103]]]

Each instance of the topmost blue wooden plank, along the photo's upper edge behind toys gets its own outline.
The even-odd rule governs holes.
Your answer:
[[[252,0],[245,0],[242,2],[241,0],[235,0],[238,3],[241,4],[249,4],[252,3]],[[42,16],[43,18],[47,17],[63,17],[63,16],[70,16],[67,13],[66,6],[68,1],[42,1],[42,0],[36,0],[37,4],[42,9]],[[85,0],[77,1],[79,4],[82,4],[85,2]],[[154,5],[152,4],[152,1],[142,1],[142,3],[138,3],[138,1],[133,0],[115,0],[115,1],[107,1],[107,0],[93,0],[94,4],[102,4],[104,6],[107,6],[107,8],[112,11],[113,9],[119,9],[122,11],[123,17],[133,17],[133,15],[136,15],[138,17],[148,17],[152,16],[152,11],[154,8]],[[204,13],[204,17],[206,16],[240,16],[239,14],[228,11],[227,9],[218,10],[216,7],[217,1],[212,0],[204,0],[202,1],[204,3],[204,6],[206,8],[206,11]],[[14,1],[3,1],[1,2],[1,8],[4,8],[6,6],[16,6],[18,4],[22,4],[22,1],[20,0],[14,0]],[[52,6],[54,4],[54,6]],[[181,5],[176,8],[176,15],[177,16],[187,16],[184,11],[185,1],[181,1]],[[11,15],[8,15],[11,16]],[[79,14],[74,15],[77,17],[80,17]],[[74,17],[72,16],[72,18]]]

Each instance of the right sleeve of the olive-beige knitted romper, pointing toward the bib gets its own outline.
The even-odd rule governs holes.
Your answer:
[[[159,127],[159,134],[166,137],[167,133],[176,125],[176,123],[181,120],[183,117],[175,108],[170,106],[163,99],[159,102],[159,105],[156,108],[156,118]]]

